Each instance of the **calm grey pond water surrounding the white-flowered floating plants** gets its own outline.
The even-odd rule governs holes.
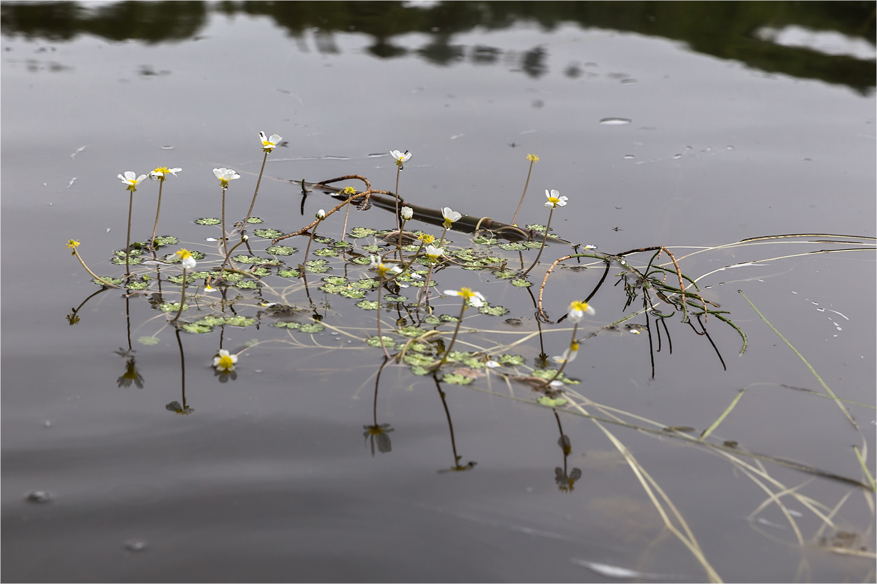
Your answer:
[[[4,580],[875,580],[873,3],[4,3],[2,18]],[[182,167],[158,225],[180,243],[161,254],[216,269],[219,228],[194,221],[220,216],[215,167],[241,175],[226,219],[246,216],[260,131],[285,143],[254,229],[339,204],[289,181],[395,190],[393,149],[412,154],[406,201],[511,223],[535,154],[517,224],[545,225],[557,189],[551,229],[577,247],[545,246],[530,287],[437,270],[436,317],[460,314],[442,294],[460,287],[507,312],[466,310],[454,350],[480,362],[436,375],[384,364],[364,342],[375,311],[319,288],[374,277],[350,254],[305,281],[270,268],[228,288],[225,313],[196,281],[181,321],[257,319],[203,334],[158,309],[179,285],[126,298],[70,257],[77,239],[96,274],[125,274],[109,261],[117,174]],[[152,236],[158,188],[133,197],[132,241]],[[375,205],[354,226],[396,219]],[[303,262],[307,236],[273,256],[248,231],[256,255]],[[766,236],[788,237],[731,246]],[[346,239],[365,257],[381,243]],[[538,253],[447,239],[509,271]],[[546,270],[584,246],[598,257],[553,270],[541,315]],[[647,320],[641,287],[625,310],[615,261],[598,285],[601,253],[652,246],[729,312],[742,356],[712,314],[707,338],[681,312]],[[653,253],[625,257],[642,272]],[[574,332],[560,319],[594,288]],[[418,291],[382,290],[383,334],[440,331],[420,353],[440,359],[454,323],[424,321]],[[320,331],[275,326],[315,314]],[[519,378],[574,334],[567,402],[537,403]],[[220,347],[239,353],[233,376],[211,367]],[[520,362],[483,367],[503,353]]]

